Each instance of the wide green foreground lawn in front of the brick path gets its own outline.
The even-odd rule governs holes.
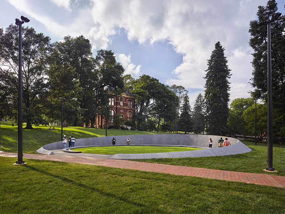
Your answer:
[[[0,157],[0,213],[280,213],[285,189]]]

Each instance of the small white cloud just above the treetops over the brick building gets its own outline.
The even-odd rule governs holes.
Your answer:
[[[123,68],[125,69],[124,75],[131,74],[135,79],[141,75],[141,65],[134,65],[131,62],[131,54],[126,56],[125,54],[115,54],[116,60],[121,63]]]

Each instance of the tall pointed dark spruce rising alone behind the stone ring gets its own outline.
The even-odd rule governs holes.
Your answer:
[[[208,60],[205,84],[205,105],[207,129],[211,135],[222,135],[227,127],[229,115],[229,81],[230,69],[224,56],[224,48],[218,41]]]

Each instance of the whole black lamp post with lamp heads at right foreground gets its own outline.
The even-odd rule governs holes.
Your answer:
[[[265,170],[274,171],[273,168],[273,123],[272,123],[272,72],[271,72],[271,27],[270,23],[274,22],[281,13],[273,13],[272,18],[269,20],[268,15],[263,15],[258,26],[267,24],[267,167]]]

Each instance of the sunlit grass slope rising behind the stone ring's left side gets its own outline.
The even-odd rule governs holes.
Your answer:
[[[25,127],[25,124],[23,124]],[[34,129],[23,129],[23,153],[35,153],[40,147],[57,141],[61,141],[61,126],[55,126],[55,131],[48,130],[49,126],[33,126]],[[0,151],[17,152],[17,125],[12,126],[10,122],[1,121],[1,146]],[[87,137],[106,136],[105,129],[85,128],[85,127],[64,127],[63,134],[74,136],[76,139]],[[107,136],[117,135],[146,135],[146,134],[164,134],[162,132],[150,131],[128,131],[107,129]],[[166,133],[165,133],[166,134]]]

